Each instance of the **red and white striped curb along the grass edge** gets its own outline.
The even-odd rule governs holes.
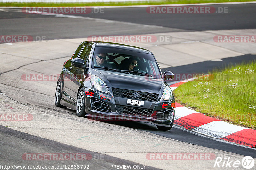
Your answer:
[[[187,81],[172,84],[172,90]],[[256,148],[256,130],[236,126],[213,117],[206,116],[195,110],[175,102],[174,124],[189,131],[194,131],[213,138],[226,140],[240,145]]]

